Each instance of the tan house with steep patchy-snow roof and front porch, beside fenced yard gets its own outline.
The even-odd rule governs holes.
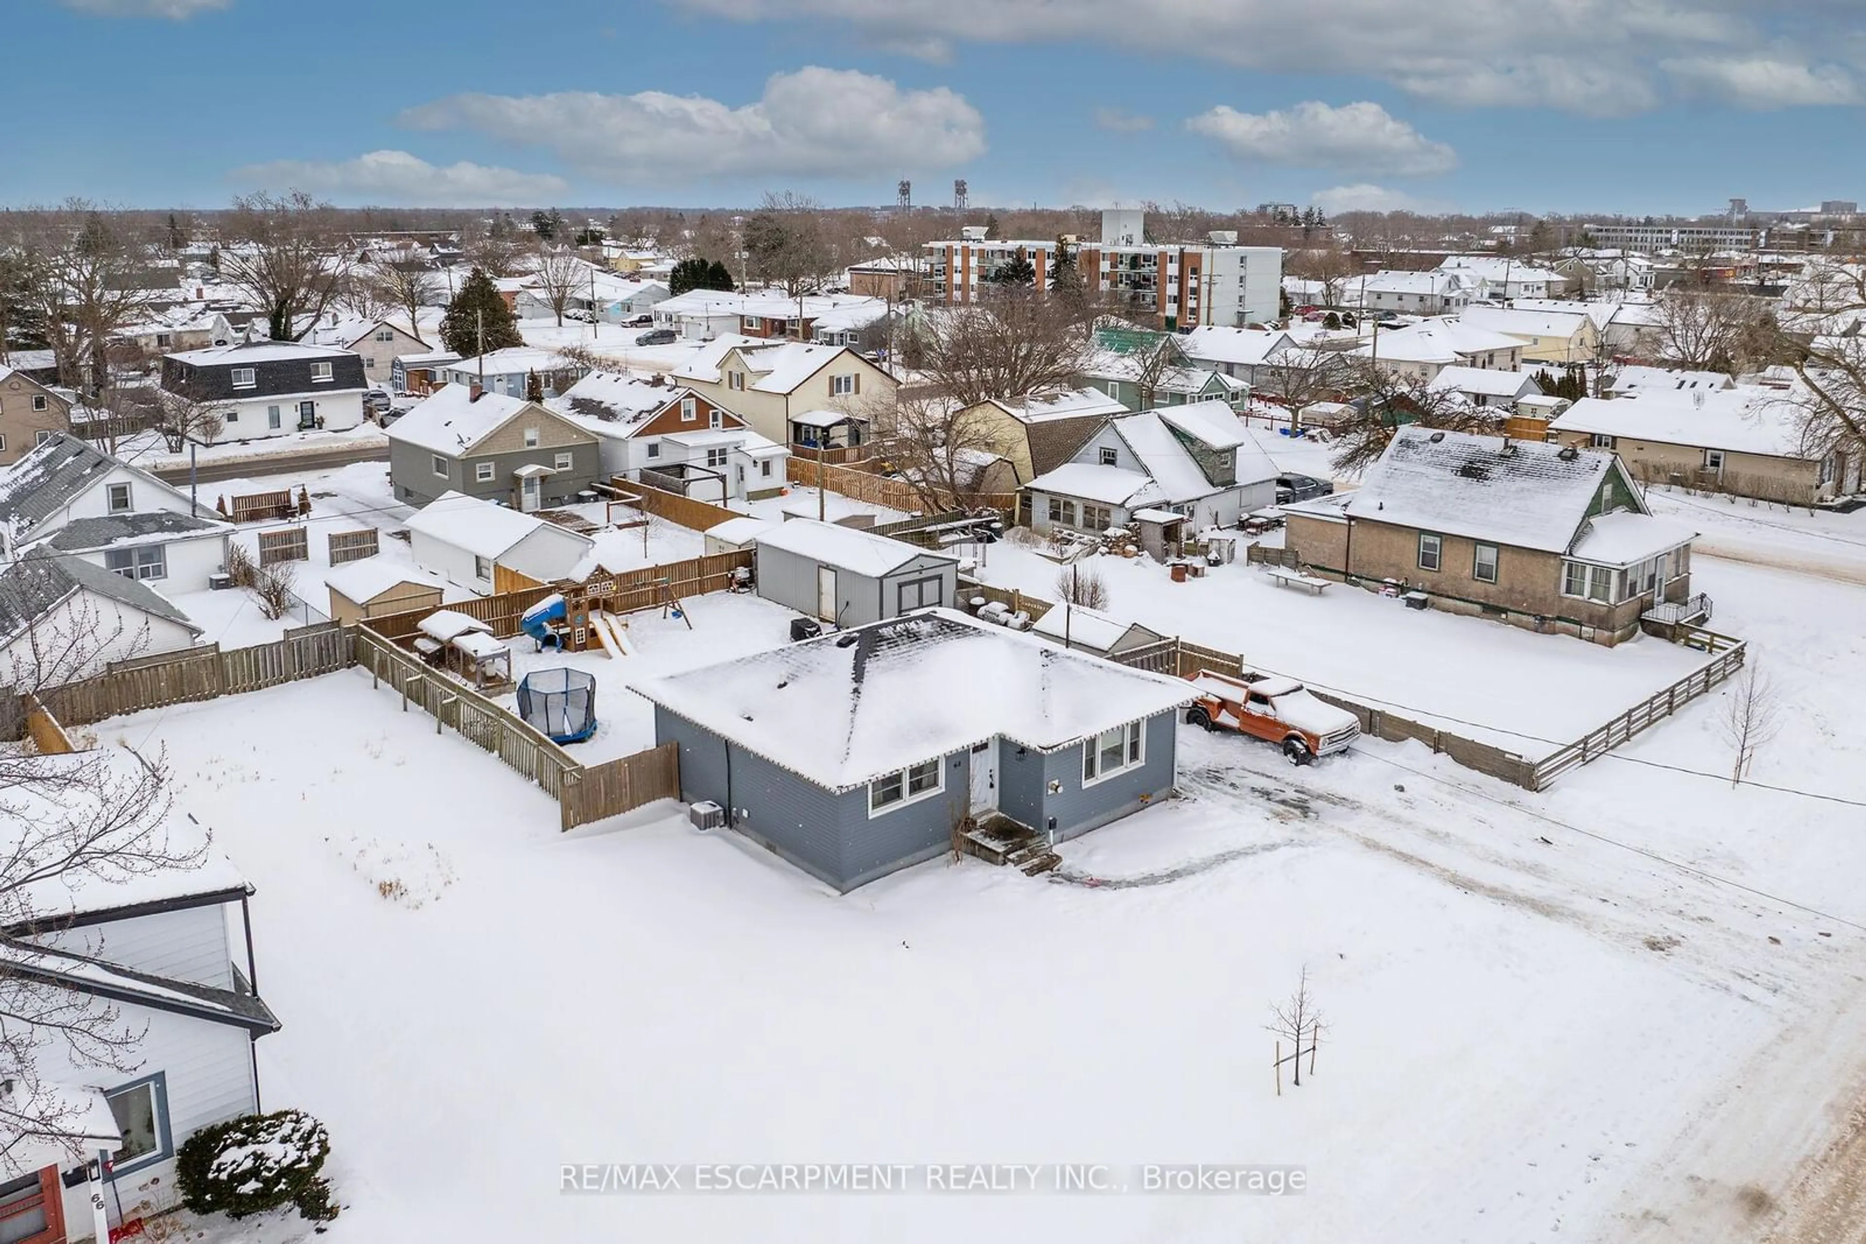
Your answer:
[[[1310,573],[1441,610],[1612,645],[1648,614],[1709,608],[1691,591],[1696,532],[1655,518],[1597,449],[1401,427],[1358,491],[1284,511]]]

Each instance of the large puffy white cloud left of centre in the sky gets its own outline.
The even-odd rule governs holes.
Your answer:
[[[541,145],[605,181],[875,177],[950,168],[985,151],[985,119],[946,88],[903,91],[851,69],[806,67],[758,103],[702,95],[452,95],[409,108],[416,129],[470,129]]]

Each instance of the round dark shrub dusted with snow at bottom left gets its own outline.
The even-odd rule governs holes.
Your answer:
[[[302,1110],[274,1110],[203,1127],[175,1154],[183,1203],[198,1214],[246,1218],[295,1205],[313,1222],[338,1216],[325,1125]]]

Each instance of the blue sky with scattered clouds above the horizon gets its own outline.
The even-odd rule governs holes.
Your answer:
[[[7,205],[1866,200],[1855,0],[7,0]]]

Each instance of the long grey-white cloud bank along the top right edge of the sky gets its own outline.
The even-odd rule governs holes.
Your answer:
[[[924,58],[952,43],[1095,39],[1274,73],[1373,76],[1459,106],[1554,106],[1614,116],[1668,86],[1739,106],[1829,103],[1819,65],[1857,30],[1857,0],[668,0],[733,21],[847,22]],[[1773,48],[1778,69],[1747,67]],[[1717,71],[1666,62],[1707,62]],[[1806,78],[1795,86],[1791,69]]]

